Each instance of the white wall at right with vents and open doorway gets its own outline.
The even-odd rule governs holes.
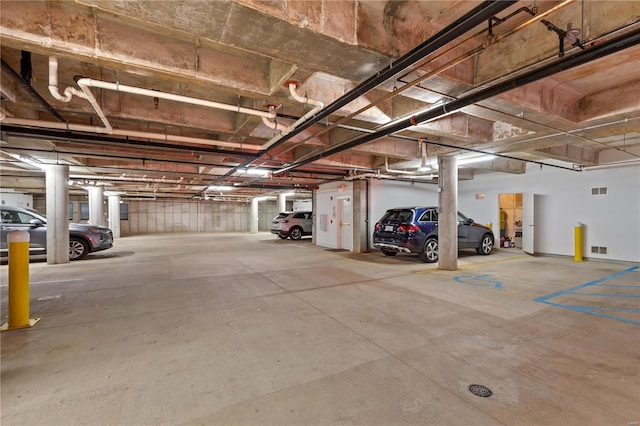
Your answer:
[[[591,195],[591,188],[601,187],[607,195]],[[582,222],[584,257],[640,261],[637,163],[582,172],[532,164],[522,175],[476,175],[459,182],[458,208],[476,222],[495,225],[500,220],[499,194],[518,192],[539,194],[534,209],[536,253],[573,256],[575,225]],[[476,194],[484,194],[484,199]],[[607,254],[592,254],[591,246],[607,247]]]

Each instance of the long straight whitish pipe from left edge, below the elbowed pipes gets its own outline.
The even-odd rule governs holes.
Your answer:
[[[13,118],[13,117],[0,118],[0,121],[2,121],[5,124],[15,124],[18,126],[40,127],[40,128],[46,128],[46,129],[75,130],[78,132],[90,132],[90,133],[108,133],[116,136],[130,136],[130,137],[136,137],[136,138],[157,139],[161,141],[171,141],[171,142],[186,142],[186,143],[194,143],[199,145],[224,146],[229,148],[240,148],[240,149],[253,150],[253,151],[259,151],[261,149],[260,146],[251,145],[251,144],[225,142],[225,141],[219,141],[219,140],[213,140],[213,139],[192,138],[188,136],[169,135],[165,133],[139,132],[136,130],[112,129],[111,131],[109,131],[107,128],[100,127],[100,126],[59,123],[57,121],[29,120],[25,118]]]

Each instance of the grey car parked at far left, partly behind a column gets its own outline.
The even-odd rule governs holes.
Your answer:
[[[29,257],[47,254],[47,219],[41,213],[21,207],[0,207],[1,245],[0,256],[9,253],[7,235],[11,231],[29,232]],[[69,259],[82,259],[89,253],[113,247],[113,233],[104,226],[69,224]]]

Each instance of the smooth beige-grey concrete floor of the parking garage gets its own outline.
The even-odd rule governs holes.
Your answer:
[[[2,424],[638,425],[637,265],[459,267],[264,233],[32,263],[41,320],[0,335]]]

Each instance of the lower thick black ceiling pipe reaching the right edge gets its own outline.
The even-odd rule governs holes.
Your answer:
[[[502,83],[498,83],[493,86],[487,87],[485,89],[479,90],[476,93],[453,100],[445,105],[441,105],[433,109],[427,110],[425,112],[416,114],[413,117],[401,120],[398,123],[395,123],[384,129],[375,131],[374,133],[357,137],[333,149],[329,149],[327,151],[321,152],[320,154],[309,157],[303,161],[292,164],[291,166],[277,170],[274,172],[274,174],[283,173],[288,170],[292,170],[297,167],[304,166],[306,164],[320,160],[324,157],[338,154],[347,149],[351,149],[356,146],[362,145],[364,143],[374,141],[384,136],[388,136],[392,133],[399,132],[401,130],[423,123],[427,120],[432,120],[434,118],[441,117],[446,114],[450,114],[468,105],[500,95],[502,93],[508,92],[509,90],[515,89],[520,86],[524,86],[526,84],[532,83],[537,80],[541,80],[543,78],[549,77],[559,72],[566,71],[568,69],[575,68],[580,65],[584,65],[588,62],[594,61],[596,59],[600,59],[604,56],[611,55],[613,53],[619,52],[626,48],[635,46],[639,43],[640,43],[640,30],[636,30],[629,34],[616,37],[614,39],[611,39],[609,41],[606,41],[594,47],[591,47],[587,50],[580,50],[574,53],[573,55],[565,56],[562,60],[558,62],[554,62],[552,64],[543,66],[537,70],[531,71],[524,75],[517,76],[509,80],[506,80]]]

